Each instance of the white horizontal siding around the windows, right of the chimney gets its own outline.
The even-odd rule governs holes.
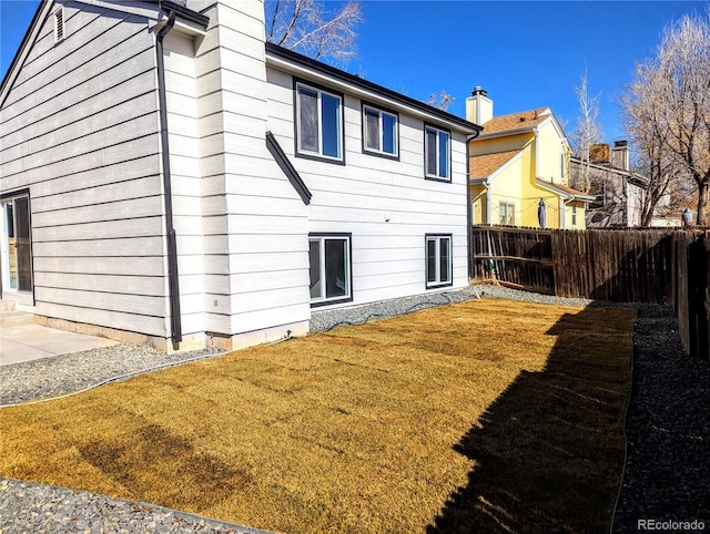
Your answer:
[[[268,129],[294,157],[293,79],[275,69],[267,73]],[[292,162],[313,193],[308,232],[352,234],[353,304],[425,292],[426,234],[453,235],[454,287],[465,286],[464,135],[452,133],[453,183],[428,181],[423,121],[399,113],[399,161],[387,160],[362,152],[359,99],[346,94],[344,106],[345,165]]]

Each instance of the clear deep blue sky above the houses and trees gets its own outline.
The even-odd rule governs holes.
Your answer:
[[[0,75],[29,28],[37,0],[0,0]],[[464,116],[475,85],[495,115],[549,106],[575,127],[575,86],[587,65],[601,93],[606,140],[623,137],[615,100],[635,65],[652,57],[665,25],[703,13],[709,1],[389,1],[364,0],[358,58],[346,70],[426,101],[456,97]]]

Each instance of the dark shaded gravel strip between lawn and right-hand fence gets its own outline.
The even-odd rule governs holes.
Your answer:
[[[662,307],[639,309],[633,349],[612,532],[645,520],[665,523],[660,532],[710,532],[710,361],[683,355],[678,319]]]

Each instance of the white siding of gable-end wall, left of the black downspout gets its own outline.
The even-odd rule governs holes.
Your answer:
[[[0,114],[0,184],[29,187],[37,312],[166,336],[153,35],[64,7],[43,22]]]

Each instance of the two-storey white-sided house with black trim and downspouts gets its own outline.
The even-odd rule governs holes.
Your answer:
[[[3,300],[163,350],[468,284],[480,127],[264,39],[261,0],[42,2],[0,86]]]

